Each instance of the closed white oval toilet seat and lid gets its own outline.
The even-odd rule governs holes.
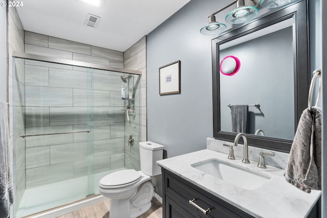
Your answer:
[[[133,185],[140,181],[142,176],[139,172],[134,169],[123,169],[112,172],[107,176],[103,177],[99,186],[101,188],[123,188],[129,185]]]

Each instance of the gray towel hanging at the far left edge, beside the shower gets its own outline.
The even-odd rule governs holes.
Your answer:
[[[9,150],[8,104],[0,101],[0,217],[9,217],[14,201]]]

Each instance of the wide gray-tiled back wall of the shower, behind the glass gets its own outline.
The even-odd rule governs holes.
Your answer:
[[[123,67],[123,53],[25,32],[25,52]],[[86,68],[26,60],[26,133],[85,130]],[[125,166],[124,83],[122,73],[91,70],[94,94],[95,172]],[[49,95],[60,96],[49,99]],[[48,99],[48,100],[45,100]],[[45,100],[45,101],[44,101]],[[43,119],[40,120],[40,117]],[[60,140],[58,140],[60,139]],[[26,138],[27,188],[85,175],[87,135],[66,134]],[[85,148],[85,149],[81,149]],[[37,158],[35,158],[37,154]],[[49,178],[44,172],[52,168]],[[43,179],[40,179],[43,178]]]

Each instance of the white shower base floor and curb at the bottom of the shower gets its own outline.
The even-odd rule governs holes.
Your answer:
[[[98,184],[102,177],[110,172],[121,169],[125,168],[96,173],[94,176],[95,194],[99,194]],[[57,217],[105,200],[105,198],[100,195],[95,198],[88,198],[85,201],[79,201],[76,204],[69,204],[85,199],[85,193],[87,193],[88,189],[85,184],[87,184],[86,176],[26,189],[15,217]],[[55,209],[49,210],[52,208]],[[41,211],[44,211],[44,213]],[[30,216],[31,214],[35,215]]]

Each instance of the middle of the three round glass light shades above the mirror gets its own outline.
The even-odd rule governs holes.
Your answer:
[[[242,24],[255,18],[258,14],[258,8],[252,6],[241,6],[227,14],[226,22],[229,24]]]

